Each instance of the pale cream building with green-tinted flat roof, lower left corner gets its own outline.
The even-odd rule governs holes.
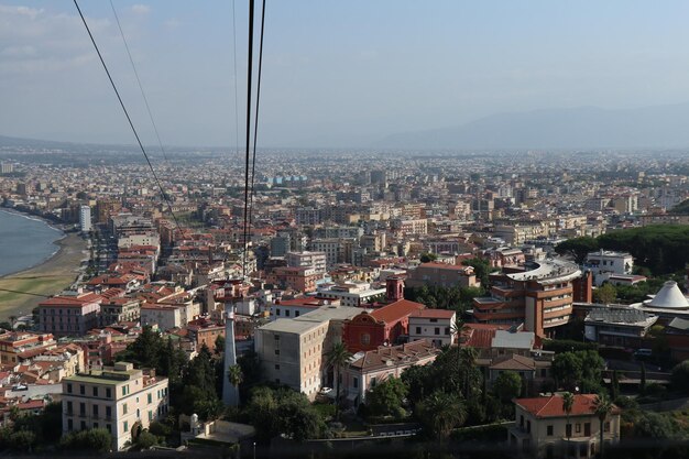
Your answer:
[[[132,363],[78,373],[62,384],[63,433],[106,428],[113,450],[167,414],[167,379],[135,370]]]

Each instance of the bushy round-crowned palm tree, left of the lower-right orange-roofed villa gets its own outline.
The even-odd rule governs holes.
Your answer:
[[[434,392],[416,409],[426,431],[438,439],[447,438],[467,419],[467,408],[461,398],[446,392]]]

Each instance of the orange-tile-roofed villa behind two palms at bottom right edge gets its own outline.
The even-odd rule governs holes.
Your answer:
[[[593,458],[600,451],[600,420],[595,415],[595,395],[577,394],[568,415],[562,397],[516,398],[515,426],[508,442],[515,451],[537,458]],[[620,408],[603,422],[605,444],[620,441]]]

